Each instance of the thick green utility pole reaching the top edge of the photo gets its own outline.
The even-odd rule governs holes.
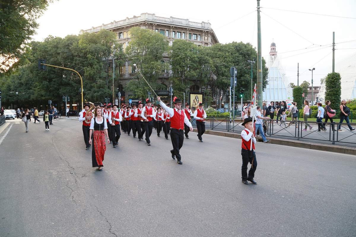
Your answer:
[[[260,0],[257,0],[257,104],[262,107],[262,47]]]

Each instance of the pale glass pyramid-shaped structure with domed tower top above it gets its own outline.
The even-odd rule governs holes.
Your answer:
[[[292,88],[290,88],[286,74],[277,57],[276,43],[272,42],[269,52],[268,65],[268,84],[263,91],[263,101],[270,104],[271,101],[287,101],[293,99]]]

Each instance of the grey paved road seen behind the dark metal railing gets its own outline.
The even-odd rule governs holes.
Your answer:
[[[214,120],[214,124],[210,123],[210,120],[208,120],[205,123],[205,128],[206,129],[211,129],[216,131],[227,131],[227,120],[224,121],[218,121]],[[289,121],[288,121],[289,122]],[[288,122],[286,121],[287,125]],[[241,122],[242,123],[242,122]],[[244,129],[244,127],[241,125],[241,123],[231,123],[231,130],[230,132],[236,132],[236,133],[241,133],[241,131]],[[195,122],[193,122],[195,124]],[[331,127],[330,125],[326,125],[327,130],[326,131],[321,131],[320,133],[316,132],[318,130],[318,124],[316,122],[309,122],[310,126],[312,126],[312,130],[307,129],[307,131],[301,131],[299,129],[299,140],[300,141],[305,141],[305,142],[313,142],[313,143],[319,143],[319,144],[324,144],[324,145],[331,145],[332,140],[333,140],[333,132],[329,133]],[[232,131],[232,128],[234,127],[234,131]],[[304,125],[302,126],[302,129],[304,128]],[[346,124],[343,124],[341,129],[343,131],[335,131],[335,145],[339,146],[349,146],[349,147],[356,147],[356,130],[350,131],[349,128],[347,127]],[[295,124],[290,125],[288,128],[285,128],[284,125],[280,126],[279,124],[274,123],[273,126],[273,131],[271,127],[271,135],[270,137],[272,138],[283,138],[283,139],[288,139],[288,140],[297,140],[298,137],[298,129],[295,129]],[[269,137],[269,136],[268,136]],[[267,137],[267,139],[268,139]],[[340,142],[337,142],[340,141]]]

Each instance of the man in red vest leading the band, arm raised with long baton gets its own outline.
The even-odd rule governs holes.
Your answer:
[[[171,116],[171,141],[173,145],[173,150],[171,150],[172,158],[177,157],[177,163],[182,165],[182,157],[180,157],[179,150],[183,146],[184,141],[184,125],[187,124],[190,128],[190,131],[193,131],[193,126],[189,122],[187,115],[180,109],[182,107],[182,101],[177,97],[174,97],[174,109],[168,108],[166,104],[161,101],[161,98],[158,96],[157,101],[161,107],[169,113]]]

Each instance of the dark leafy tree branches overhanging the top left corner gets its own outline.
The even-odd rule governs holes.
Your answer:
[[[36,19],[52,0],[0,1],[0,72],[26,63],[27,44],[38,28]]]

